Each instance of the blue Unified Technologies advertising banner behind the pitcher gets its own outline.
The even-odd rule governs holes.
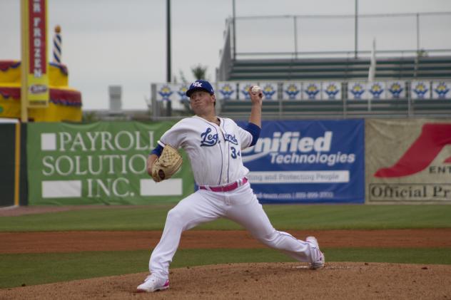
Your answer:
[[[255,146],[242,151],[258,200],[363,203],[364,127],[364,120],[263,121]]]

